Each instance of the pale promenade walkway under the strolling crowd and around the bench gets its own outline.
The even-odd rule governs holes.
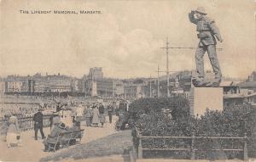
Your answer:
[[[90,142],[96,140],[97,138],[106,137],[115,133],[114,122],[117,120],[116,116],[113,116],[113,123],[108,123],[108,116],[106,116],[107,123],[102,127],[87,127],[84,128],[84,137],[82,138],[81,143]],[[84,125],[84,123],[82,123]],[[22,146],[7,148],[6,142],[3,140],[0,141],[0,161],[39,161],[45,156],[50,154],[55,154],[53,152],[44,152],[43,140],[40,138],[40,132],[38,132],[39,137],[38,141],[34,140],[34,131],[24,131],[21,133]],[[49,128],[44,129],[44,134],[49,134]],[[63,148],[58,150],[61,152],[66,150]]]

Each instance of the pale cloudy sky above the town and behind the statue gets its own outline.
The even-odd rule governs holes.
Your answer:
[[[196,47],[188,13],[202,6],[216,21],[223,75],[256,70],[256,3],[253,0],[44,0],[0,1],[0,75],[61,73],[82,77],[102,67],[115,78],[156,76],[171,47]],[[99,10],[101,14],[20,14],[23,10]],[[211,64],[205,55],[205,69]],[[169,70],[195,70],[195,49],[171,49]]]

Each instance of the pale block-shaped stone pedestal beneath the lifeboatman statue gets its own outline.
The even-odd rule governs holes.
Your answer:
[[[222,87],[192,87],[189,96],[190,114],[204,115],[207,109],[223,110]]]

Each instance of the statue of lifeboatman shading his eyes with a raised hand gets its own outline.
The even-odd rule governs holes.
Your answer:
[[[196,15],[196,18],[195,18]],[[219,42],[223,42],[222,36],[218,31],[218,27],[215,21],[207,17],[205,8],[198,7],[195,11],[189,13],[189,20],[196,25],[196,31],[198,31],[197,37],[200,39],[198,47],[195,52],[195,64],[197,77],[195,79],[195,87],[201,87],[206,84],[204,79],[204,54],[207,52],[210,62],[212,64],[213,72],[215,73],[214,81],[212,81],[213,87],[218,87],[221,81],[221,70],[218,64],[218,58],[216,54],[216,39]]]

